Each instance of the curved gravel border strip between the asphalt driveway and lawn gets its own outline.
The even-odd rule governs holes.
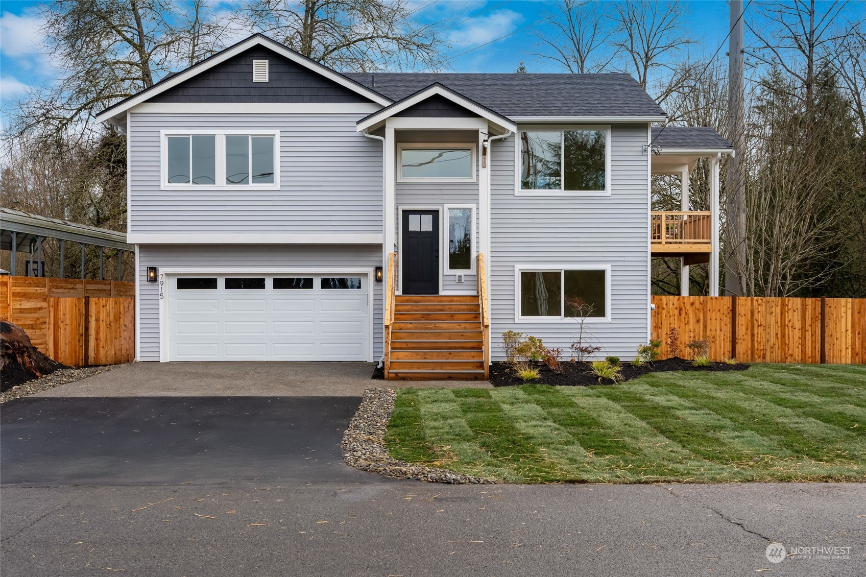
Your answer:
[[[352,467],[395,479],[429,483],[494,484],[493,479],[461,475],[449,470],[397,461],[385,448],[385,429],[394,412],[397,393],[393,389],[367,389],[358,412],[349,421],[339,444],[343,460]]]

